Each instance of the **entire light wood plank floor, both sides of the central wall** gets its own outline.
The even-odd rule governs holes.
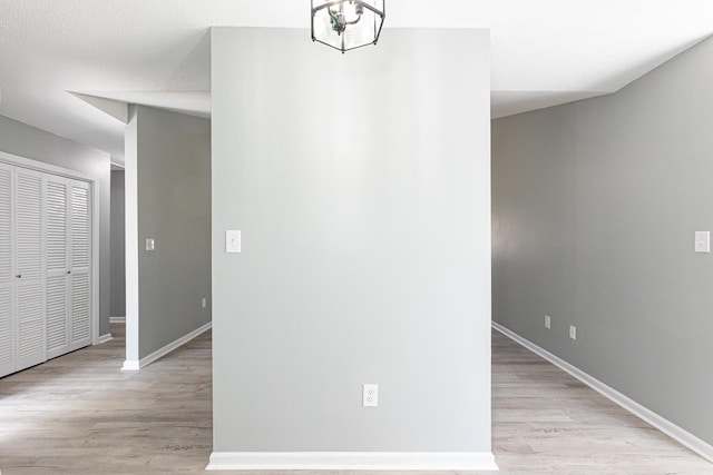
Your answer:
[[[0,379],[2,475],[204,473],[211,333],[120,373],[123,327],[111,330],[109,343]],[[497,333],[492,343],[500,474],[713,474],[713,464],[527,349]]]

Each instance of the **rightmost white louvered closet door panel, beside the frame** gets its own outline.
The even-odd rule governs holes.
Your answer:
[[[91,192],[89,184],[70,181],[70,349],[91,344]]]

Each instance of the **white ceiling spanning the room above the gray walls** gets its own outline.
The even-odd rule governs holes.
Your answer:
[[[88,102],[207,116],[208,28],[309,28],[309,0],[0,0],[0,115],[121,162],[120,107],[117,119]],[[388,0],[381,41],[399,27],[490,28],[492,115],[502,117],[619,89],[713,33],[713,1]]]

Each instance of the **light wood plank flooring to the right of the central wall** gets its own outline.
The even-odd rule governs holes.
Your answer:
[[[497,331],[492,437],[500,473],[713,474],[713,464]]]

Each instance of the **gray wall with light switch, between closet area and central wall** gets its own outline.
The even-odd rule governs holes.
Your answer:
[[[138,240],[134,268],[143,358],[211,321],[211,121],[144,106],[130,109],[136,133],[128,136],[136,145],[127,150],[127,167],[135,154],[138,236],[133,239]],[[155,250],[146,250],[146,238],[155,239]]]

